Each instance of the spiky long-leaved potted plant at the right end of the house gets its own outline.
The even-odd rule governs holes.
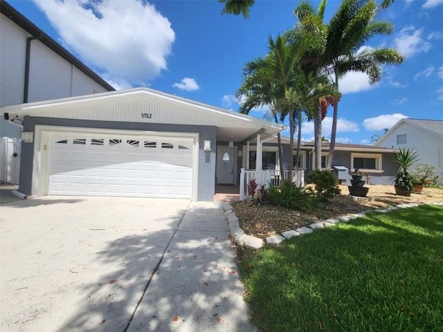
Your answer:
[[[417,176],[412,169],[418,160],[417,152],[412,149],[399,149],[394,156],[394,161],[397,164],[395,171],[395,194],[402,196],[410,196],[414,190],[415,183],[417,183]]]

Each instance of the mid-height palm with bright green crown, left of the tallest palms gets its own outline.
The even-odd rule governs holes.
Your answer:
[[[273,87],[278,93],[276,98],[277,109],[289,116],[289,145],[291,146],[290,157],[293,159],[293,133],[294,133],[294,88],[293,82],[302,74],[298,62],[305,51],[316,44],[316,39],[305,35],[289,44],[287,39],[277,36],[275,40],[269,36],[266,57],[256,57],[244,66],[244,82],[253,77],[259,86],[266,89]],[[248,83],[249,84],[249,83]],[[257,86],[257,84],[255,84]],[[284,117],[283,117],[284,118]],[[292,181],[292,172],[289,172],[288,180]]]

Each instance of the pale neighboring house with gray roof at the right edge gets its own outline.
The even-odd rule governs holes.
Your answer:
[[[419,163],[437,167],[443,176],[443,120],[401,119],[376,145],[413,149],[419,155]]]

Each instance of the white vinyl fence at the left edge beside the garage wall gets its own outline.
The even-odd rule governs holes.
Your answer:
[[[0,137],[0,181],[19,184],[21,138]]]

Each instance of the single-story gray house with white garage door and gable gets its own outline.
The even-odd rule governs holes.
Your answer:
[[[212,201],[216,185],[239,185],[241,169],[270,169],[275,176],[280,163],[286,170],[293,167],[287,138],[278,160],[276,134],[285,129],[282,124],[147,88],[0,111],[23,121],[19,192],[30,196]],[[328,147],[323,148],[326,154]],[[370,183],[388,183],[393,152],[338,144],[334,165],[372,174]],[[314,145],[305,142],[299,163],[303,174],[313,160]]]

